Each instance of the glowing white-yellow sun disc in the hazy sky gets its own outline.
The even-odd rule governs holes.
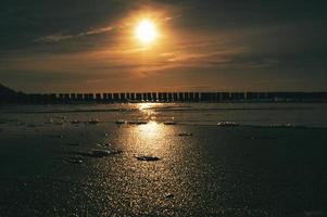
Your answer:
[[[158,37],[155,24],[150,20],[142,20],[136,27],[136,37],[142,43],[151,43]]]

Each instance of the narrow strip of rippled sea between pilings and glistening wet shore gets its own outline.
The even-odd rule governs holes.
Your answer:
[[[174,122],[217,125],[231,122],[247,126],[327,127],[326,103],[130,103],[85,105],[27,105],[1,108],[0,122],[21,118],[42,124],[49,118],[103,123],[115,120]],[[34,115],[32,115],[34,114]]]

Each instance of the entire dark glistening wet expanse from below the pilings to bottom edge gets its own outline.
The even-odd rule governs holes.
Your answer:
[[[1,111],[1,217],[327,215],[324,104]]]

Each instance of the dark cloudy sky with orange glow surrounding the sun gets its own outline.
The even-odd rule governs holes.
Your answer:
[[[159,37],[135,28],[151,20]],[[0,84],[25,92],[327,91],[327,3],[1,0]]]

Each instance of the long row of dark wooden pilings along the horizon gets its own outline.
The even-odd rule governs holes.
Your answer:
[[[12,100],[13,102],[15,100]],[[327,102],[327,92],[104,92],[20,95],[26,103]]]

